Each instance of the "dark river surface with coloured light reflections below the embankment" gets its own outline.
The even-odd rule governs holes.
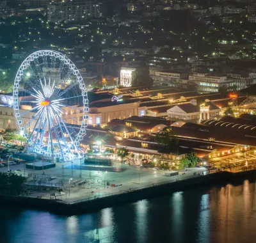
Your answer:
[[[256,184],[198,187],[79,216],[0,207],[0,243],[256,242]]]

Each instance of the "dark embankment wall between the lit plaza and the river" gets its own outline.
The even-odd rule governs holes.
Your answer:
[[[102,208],[115,207],[125,203],[131,203],[138,200],[163,196],[170,192],[183,191],[186,189],[196,189],[199,187],[223,186],[228,183],[241,184],[245,179],[256,179],[256,170],[243,171],[239,173],[229,173],[223,171],[212,173],[205,176],[197,176],[186,180],[170,182],[168,184],[155,185],[139,190],[129,191],[122,194],[98,198],[95,200],[79,201],[77,203],[67,204],[59,200],[46,200],[40,198],[26,198],[20,196],[6,196],[0,194],[1,203],[13,205],[14,207],[37,208],[49,210],[55,214],[74,215],[84,212],[91,212]]]

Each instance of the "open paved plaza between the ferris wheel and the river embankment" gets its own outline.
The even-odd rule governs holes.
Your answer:
[[[23,170],[24,164],[13,165],[10,168],[12,171]],[[0,168],[0,171],[7,172],[8,168]],[[29,173],[28,196],[61,199],[68,203],[184,180],[207,173],[205,168],[191,168],[188,171],[180,170],[179,175],[176,176],[166,176],[164,175],[166,171],[163,169],[130,166],[120,162],[114,162],[113,166],[86,166],[79,162],[67,162],[56,164],[55,168],[43,171],[33,169],[26,169],[26,171]],[[56,198],[51,197],[60,188],[65,194]]]

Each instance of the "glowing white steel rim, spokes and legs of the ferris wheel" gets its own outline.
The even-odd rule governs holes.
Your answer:
[[[70,84],[65,90],[57,90],[54,86],[54,81],[52,82],[50,79],[47,80],[45,77],[42,77],[42,70],[40,68],[40,63],[38,58],[42,59],[42,67],[47,67],[47,58],[51,59],[51,63],[49,63],[49,68],[54,68],[56,64],[56,59],[61,62],[60,64],[60,73],[63,72],[63,68],[67,68],[67,74],[64,77],[64,81],[67,81],[70,74],[76,76],[76,81],[73,84]],[[31,68],[31,62],[34,62],[36,70]],[[37,71],[37,74],[35,72]],[[33,77],[28,82],[31,82],[30,86],[34,86],[33,90],[26,90],[20,86],[20,81],[22,81],[22,76],[25,75],[24,72],[32,72]],[[36,76],[36,77],[35,77]],[[35,85],[34,85],[35,84]],[[72,138],[70,135],[70,129],[67,128],[67,123],[61,118],[61,114],[63,114],[64,104],[61,104],[65,99],[64,94],[67,93],[68,90],[74,88],[74,86],[79,87],[80,93],[83,97],[83,118],[81,121],[81,127],[79,128],[79,132],[77,132],[76,136]],[[62,88],[62,87],[61,87]],[[35,127],[33,128],[31,134],[28,134],[28,124],[26,125],[22,120],[22,114],[20,114],[20,104],[19,104],[19,91],[28,92],[31,96],[35,97],[36,106],[28,112],[35,112],[29,124],[32,121],[35,122]],[[74,98],[74,97],[72,97]],[[49,101],[49,105],[45,106],[44,101]],[[42,105],[43,104],[43,105]],[[28,146],[33,148],[33,151],[37,153],[42,153],[47,156],[52,156],[52,158],[59,157],[63,159],[63,161],[69,161],[70,159],[74,159],[75,157],[81,157],[81,152],[79,150],[79,141],[83,139],[83,136],[86,134],[87,120],[88,120],[88,98],[85,84],[83,82],[83,78],[79,70],[77,70],[76,66],[72,61],[70,61],[67,56],[61,54],[57,51],[36,51],[33,54],[29,55],[19,67],[17,71],[14,85],[13,85],[13,109],[15,112],[15,118],[17,120],[17,124],[19,125],[19,130],[24,134],[28,143],[26,145],[26,149]],[[37,120],[36,120],[37,119]],[[48,139],[47,139],[47,149],[45,149],[45,132],[48,128]],[[55,139],[58,143],[53,145],[52,133],[55,134]],[[58,135],[61,134],[61,137]],[[68,137],[70,143],[68,143],[65,139],[65,135]],[[44,144],[44,146],[43,146]],[[57,147],[54,149],[54,147]],[[74,154],[74,151],[76,152]]]

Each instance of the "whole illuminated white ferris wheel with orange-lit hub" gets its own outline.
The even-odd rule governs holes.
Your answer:
[[[69,161],[81,157],[88,99],[76,66],[56,51],[37,51],[19,67],[13,86],[13,109],[24,151]]]

